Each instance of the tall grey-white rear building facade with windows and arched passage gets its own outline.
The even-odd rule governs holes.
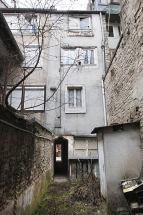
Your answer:
[[[95,125],[105,124],[101,14],[14,11],[5,10],[5,18],[25,54],[24,75],[35,68],[12,92],[9,102],[26,118],[34,116],[53,131],[53,175],[62,173],[78,180],[92,169],[98,177],[97,139],[90,133]],[[14,77],[9,88],[18,79]]]

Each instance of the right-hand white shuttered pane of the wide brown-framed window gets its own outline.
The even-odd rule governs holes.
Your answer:
[[[26,110],[44,110],[44,88],[30,89],[25,87],[24,108]]]

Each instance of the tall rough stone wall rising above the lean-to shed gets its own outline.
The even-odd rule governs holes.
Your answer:
[[[121,0],[123,38],[104,80],[108,125],[141,120],[143,126],[141,4],[141,0]]]

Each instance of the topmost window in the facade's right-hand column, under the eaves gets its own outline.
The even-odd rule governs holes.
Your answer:
[[[72,34],[90,34],[91,18],[88,16],[69,17],[69,33]]]

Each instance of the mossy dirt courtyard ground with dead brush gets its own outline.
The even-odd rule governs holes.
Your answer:
[[[99,183],[52,183],[34,215],[108,215]]]

